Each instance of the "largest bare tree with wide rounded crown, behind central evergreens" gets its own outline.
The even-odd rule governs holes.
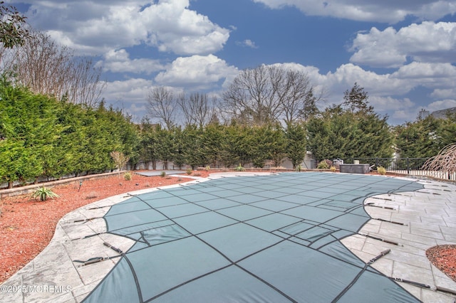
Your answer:
[[[242,70],[224,92],[223,110],[244,124],[294,122],[316,108],[314,86],[305,73],[276,65]]]

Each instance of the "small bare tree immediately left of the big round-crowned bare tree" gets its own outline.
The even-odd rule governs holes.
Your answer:
[[[187,97],[185,94],[180,95],[177,103],[184,115],[185,124],[195,124],[204,127],[214,119],[215,100],[209,101],[206,94],[194,92]]]

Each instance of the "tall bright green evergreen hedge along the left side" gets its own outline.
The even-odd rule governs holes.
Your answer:
[[[0,82],[0,181],[102,172],[110,151],[138,159],[138,132],[119,110],[83,107]]]

